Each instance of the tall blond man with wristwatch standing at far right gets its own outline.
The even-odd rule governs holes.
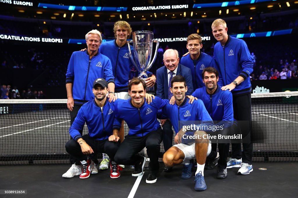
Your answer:
[[[249,75],[253,71],[253,62],[246,43],[228,35],[226,22],[216,19],[212,25],[212,34],[218,41],[214,46],[215,61],[218,64],[220,80],[223,80],[222,90],[233,94],[234,118],[240,122],[243,137],[251,137],[251,84]],[[240,167],[238,174],[247,175],[252,172],[252,142],[232,144],[232,159],[227,168]],[[242,156],[242,160],[241,160]],[[243,162],[243,163],[242,163]]]

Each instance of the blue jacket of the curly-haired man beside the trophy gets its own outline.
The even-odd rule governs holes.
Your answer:
[[[134,57],[134,47],[131,46],[131,53]],[[107,56],[112,63],[113,75],[115,77],[115,92],[128,91],[128,75],[133,67],[129,57],[128,45],[119,47],[116,40],[103,42],[99,47],[99,52]],[[146,72],[150,77],[151,72]]]

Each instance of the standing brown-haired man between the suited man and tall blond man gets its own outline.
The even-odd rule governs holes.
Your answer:
[[[205,67],[217,68],[217,64],[211,56],[205,54],[204,52],[200,52],[203,47],[202,38],[200,35],[190,34],[187,37],[186,42],[186,47],[189,54],[183,56],[180,63],[190,68],[193,78],[193,90],[196,90],[205,86],[202,80],[203,69],[205,69]]]

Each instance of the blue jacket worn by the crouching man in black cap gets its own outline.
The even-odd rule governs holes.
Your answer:
[[[69,134],[74,140],[81,138],[79,130],[87,124],[88,134],[96,140],[105,140],[113,134],[114,128],[120,128],[121,122],[115,119],[114,102],[108,102],[108,98],[103,106],[103,110],[90,100],[83,104],[77,113],[75,121],[69,128]]]

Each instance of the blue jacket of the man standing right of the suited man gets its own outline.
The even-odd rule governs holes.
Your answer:
[[[193,90],[205,86],[202,78],[202,72],[205,67],[215,67],[216,69],[218,69],[215,60],[211,56],[203,52],[200,53],[200,56],[197,60],[191,59],[190,54],[187,56],[183,56],[180,63],[190,68],[191,70],[191,75],[193,78]]]

